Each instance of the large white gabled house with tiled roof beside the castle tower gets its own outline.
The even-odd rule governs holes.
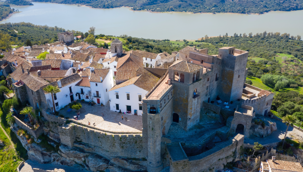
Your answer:
[[[142,115],[142,98],[158,81],[158,77],[145,71],[109,90],[110,110],[132,115]]]

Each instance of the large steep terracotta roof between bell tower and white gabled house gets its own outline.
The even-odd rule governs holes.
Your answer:
[[[137,76],[139,68],[143,68],[143,60],[133,54],[121,57],[117,63],[116,79],[127,80]]]

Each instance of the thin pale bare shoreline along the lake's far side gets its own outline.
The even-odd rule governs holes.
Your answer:
[[[30,1],[30,2],[37,2],[37,1]],[[56,2],[43,2],[43,3],[56,3]],[[88,7],[88,8],[91,8],[91,9],[114,9],[114,8],[121,8],[121,7],[127,7],[127,8],[132,8],[130,6],[120,6],[120,7],[114,7],[114,8],[93,8],[91,6],[88,6],[88,5],[82,5],[82,4],[79,4],[79,3],[73,3],[73,4],[65,4],[65,3],[57,3],[57,4],[64,4],[64,5],[80,5],[80,6],[83,6],[83,7]],[[24,6],[30,6],[30,5],[24,5]],[[130,11],[134,11],[134,12],[150,12],[150,13],[184,13],[184,14],[238,14],[238,15],[262,15],[260,13],[230,13],[230,12],[214,12],[214,13],[211,13],[211,12],[200,12],[200,13],[193,13],[193,12],[183,12],[183,11],[163,11],[163,12],[158,12],[158,11],[148,11],[148,10],[132,10],[132,9],[129,9]],[[303,9],[302,9],[303,10]],[[279,11],[279,10],[277,10]],[[291,11],[300,11],[300,10],[291,10]],[[280,11],[280,12],[291,12],[291,11]],[[271,11],[268,11],[268,12],[263,12],[263,14],[266,14],[266,13],[270,13],[270,12],[275,12],[274,10],[271,10]]]

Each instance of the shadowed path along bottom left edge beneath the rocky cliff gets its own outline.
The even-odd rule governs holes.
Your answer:
[[[65,170],[65,172],[89,172],[85,169],[68,167],[64,165],[39,164],[31,160],[25,161],[24,166],[21,168],[20,172],[34,172],[33,168],[42,169],[42,170],[63,169]]]

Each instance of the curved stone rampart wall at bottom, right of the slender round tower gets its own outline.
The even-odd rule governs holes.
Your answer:
[[[216,144],[213,149],[207,152],[188,157],[188,160],[170,160],[170,172],[216,172],[216,170],[224,168],[223,164],[239,160],[243,141],[244,136],[238,134],[232,140]]]

